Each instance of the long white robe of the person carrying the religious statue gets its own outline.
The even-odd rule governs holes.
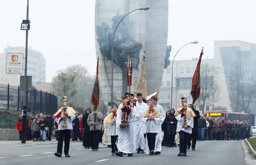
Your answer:
[[[128,115],[128,122],[130,127],[120,128],[122,121],[122,110],[123,104],[120,104],[117,109],[116,115],[116,134],[118,135],[117,148],[119,152],[123,153],[133,153],[134,151],[134,131],[133,131],[133,120],[135,117],[136,107],[131,107],[132,112]]]

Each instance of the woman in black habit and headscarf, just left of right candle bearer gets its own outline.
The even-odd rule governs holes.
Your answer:
[[[166,116],[165,123],[167,124],[167,145],[168,147],[174,147],[174,138],[177,130],[177,120],[174,116],[174,109],[170,110],[170,114]]]

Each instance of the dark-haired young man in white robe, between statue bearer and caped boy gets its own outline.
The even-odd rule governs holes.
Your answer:
[[[136,102],[136,114],[135,114],[135,127],[136,127],[136,134],[135,134],[135,149],[137,149],[137,153],[144,153],[145,151],[145,136],[144,136],[144,129],[145,124],[140,121],[140,116],[148,107],[146,103],[142,101],[142,94],[137,93],[137,102]],[[146,134],[145,134],[146,135]]]

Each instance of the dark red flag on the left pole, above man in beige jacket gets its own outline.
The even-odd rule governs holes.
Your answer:
[[[99,57],[97,60],[97,71],[96,71],[96,78],[95,78],[95,83],[94,87],[92,90],[92,105],[95,107],[95,110],[97,110],[97,106],[99,105],[100,101],[100,87],[99,87]]]

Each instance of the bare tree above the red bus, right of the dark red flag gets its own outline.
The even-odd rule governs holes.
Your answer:
[[[202,112],[204,114],[205,105],[213,105],[219,100],[219,84],[216,83],[217,77],[216,67],[205,63],[200,67],[200,82],[201,90],[200,97],[196,101],[196,105],[202,107]]]

